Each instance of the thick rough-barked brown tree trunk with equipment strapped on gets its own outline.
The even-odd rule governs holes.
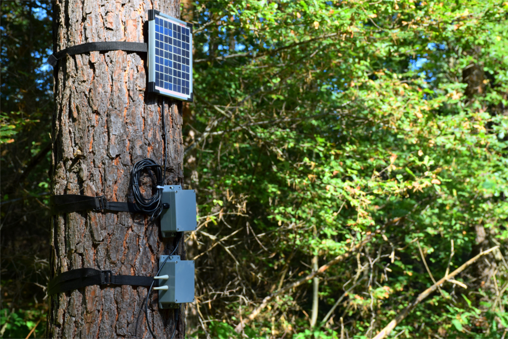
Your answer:
[[[86,42],[146,42],[147,11],[178,18],[177,0],[59,0],[53,4],[54,51]],[[181,103],[145,94],[147,55],[90,52],[59,60],[54,70],[52,193],[105,195],[133,201],[134,163],[163,164],[161,108],[166,105],[168,163],[165,184],[182,183]],[[151,181],[147,180],[151,186]],[[148,190],[150,191],[150,190]],[[150,192],[145,193],[149,195]],[[160,222],[128,212],[81,211],[51,219],[51,272],[90,267],[113,274],[153,276],[158,258],[176,245],[163,239]],[[183,240],[179,255],[184,259]],[[53,295],[48,337],[151,337],[144,315],[147,287],[89,286]],[[181,306],[180,315],[185,305]],[[152,293],[148,321],[157,337],[170,337],[174,311],[158,310]],[[183,337],[180,316],[175,337]]]

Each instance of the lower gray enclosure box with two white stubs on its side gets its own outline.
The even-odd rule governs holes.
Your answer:
[[[161,256],[159,267],[168,256]],[[180,256],[172,256],[166,261],[161,275],[169,275],[168,280],[159,280],[159,287],[168,286],[168,290],[158,290],[160,309],[173,309],[176,304],[194,301],[194,261],[180,260]]]

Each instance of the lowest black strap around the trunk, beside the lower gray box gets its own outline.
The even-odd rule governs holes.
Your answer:
[[[58,274],[48,284],[48,295],[67,292],[92,285],[158,286],[152,276],[113,275],[110,270],[78,268]]]

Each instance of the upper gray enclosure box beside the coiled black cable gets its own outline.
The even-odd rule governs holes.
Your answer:
[[[180,185],[166,185],[162,191],[162,203],[169,204],[169,208],[163,208],[161,213],[163,237],[171,237],[174,232],[196,230],[196,191],[182,190]]]

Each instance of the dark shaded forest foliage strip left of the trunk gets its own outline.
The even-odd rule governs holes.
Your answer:
[[[0,333],[43,337],[47,304],[51,3],[0,3]]]

